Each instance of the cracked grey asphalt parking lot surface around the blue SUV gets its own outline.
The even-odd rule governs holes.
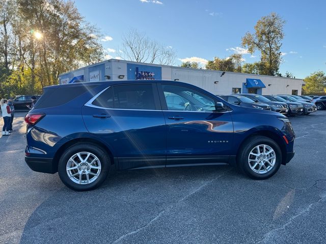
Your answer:
[[[0,243],[326,242],[326,110],[290,117],[295,156],[267,180],[230,166],[129,170],[90,192],[30,170],[23,115],[0,138]]]

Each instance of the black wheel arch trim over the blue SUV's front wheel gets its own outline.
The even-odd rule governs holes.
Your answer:
[[[265,136],[265,137],[268,137],[268,138],[274,140],[280,146],[281,153],[282,153],[282,164],[285,165],[285,161],[286,161],[286,143],[285,143],[284,139],[282,138],[282,136],[280,136],[277,132],[273,132],[273,131],[270,131],[270,130],[254,131],[251,134],[249,134],[246,138],[244,138],[243,141],[240,143],[240,145],[238,147],[237,154],[236,154],[236,160],[237,160],[237,157],[239,155],[239,151],[242,148],[242,146],[244,144],[246,144],[246,142],[248,140],[250,140],[252,137],[255,137],[255,136]]]

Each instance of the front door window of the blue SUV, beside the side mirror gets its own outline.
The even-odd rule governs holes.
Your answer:
[[[214,111],[215,100],[198,92],[195,89],[179,85],[162,85],[164,96],[166,98],[168,110],[184,110],[184,111]],[[169,104],[169,96],[174,96],[180,103],[174,105]]]

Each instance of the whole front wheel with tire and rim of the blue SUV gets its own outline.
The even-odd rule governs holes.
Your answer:
[[[273,176],[282,163],[279,145],[265,136],[251,137],[243,143],[237,156],[237,164],[242,172],[253,179]]]

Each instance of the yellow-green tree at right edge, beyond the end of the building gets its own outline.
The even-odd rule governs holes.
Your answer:
[[[307,95],[326,93],[326,75],[323,71],[317,71],[307,76],[305,85],[302,87],[303,93]]]

